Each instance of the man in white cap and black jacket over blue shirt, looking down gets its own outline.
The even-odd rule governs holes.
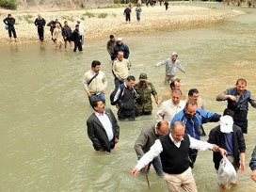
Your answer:
[[[226,115],[227,109],[224,111],[224,116],[220,118],[220,125],[211,130],[208,142],[216,144],[227,151],[227,158],[231,161],[233,167],[243,173],[246,170],[246,142],[243,132],[240,127],[233,124],[232,116]],[[214,152],[213,160],[216,170],[222,156]],[[234,183],[236,184],[236,182]],[[221,185],[221,188],[226,189],[228,184]]]

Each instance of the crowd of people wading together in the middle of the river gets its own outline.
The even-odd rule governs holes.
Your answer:
[[[149,171],[151,164],[158,176],[168,184],[169,191],[197,191],[192,174],[198,151],[212,150],[216,170],[222,158],[227,158],[236,172],[246,170],[246,140],[248,134],[248,104],[256,108],[256,101],[247,89],[247,80],[240,78],[234,88],[228,88],[216,96],[216,101],[227,101],[222,115],[205,110],[198,88],[191,88],[184,99],[181,80],[175,76],[178,69],[185,72],[178,54],[155,64],[166,66],[164,82],[169,87],[168,100],[160,102],[158,93],[148,80],[145,72],[140,72],[138,81],[130,74],[130,50],[119,37],[110,35],[106,50],[112,60],[115,88],[110,94],[110,104],[118,108],[118,120],[136,120],[136,117],[152,115],[152,97],[158,105],[155,122],[141,130],[136,138],[135,151],[138,162],[131,174],[139,170]],[[88,136],[96,151],[111,152],[119,142],[120,127],[110,108],[105,108],[107,89],[101,62],[92,61],[91,70],[84,75],[84,86],[88,101],[94,113],[89,117]],[[94,121],[93,121],[94,120]],[[202,124],[218,122],[209,133],[207,142],[200,141],[206,136]],[[255,150],[254,150],[255,151]],[[251,178],[255,180],[255,152],[250,163]],[[237,179],[231,185],[237,184]],[[221,184],[226,189],[229,183]]]

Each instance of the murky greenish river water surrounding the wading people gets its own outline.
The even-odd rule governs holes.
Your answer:
[[[206,108],[222,113],[226,104],[217,103],[216,95],[238,77],[248,79],[248,89],[256,94],[255,10],[249,11],[211,27],[124,36],[131,50],[131,73],[138,77],[147,72],[162,95],[167,90],[165,68],[153,66],[176,51],[186,70],[178,73],[184,93],[199,88]],[[136,164],[136,136],[154,115],[120,122],[120,143],[114,152],[94,152],[88,140],[85,122],[92,110],[82,77],[93,59],[101,60],[109,96],[114,85],[105,43],[89,41],[82,54],[55,50],[50,44],[0,48],[1,191],[148,191],[145,176],[132,178],[129,171]],[[255,109],[249,107],[247,165],[255,124]],[[205,125],[206,132],[214,126]],[[193,172],[199,191],[218,191],[211,152],[200,152]],[[153,169],[150,180],[151,191],[167,190]],[[254,186],[248,168],[232,191],[253,191]]]

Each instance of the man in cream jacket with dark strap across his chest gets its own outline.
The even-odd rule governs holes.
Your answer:
[[[93,60],[91,62],[91,70],[84,74],[83,83],[88,94],[89,104],[96,100],[101,100],[105,104],[104,93],[107,82],[104,72],[101,71],[100,61]]]

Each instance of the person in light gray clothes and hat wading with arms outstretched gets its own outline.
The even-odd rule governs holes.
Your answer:
[[[173,52],[167,60],[161,61],[157,64],[155,64],[155,67],[165,65],[166,66],[166,79],[165,83],[169,85],[170,81],[174,81],[174,76],[177,72],[177,69],[184,72],[184,68],[180,62],[180,60],[177,59],[178,54]]]

